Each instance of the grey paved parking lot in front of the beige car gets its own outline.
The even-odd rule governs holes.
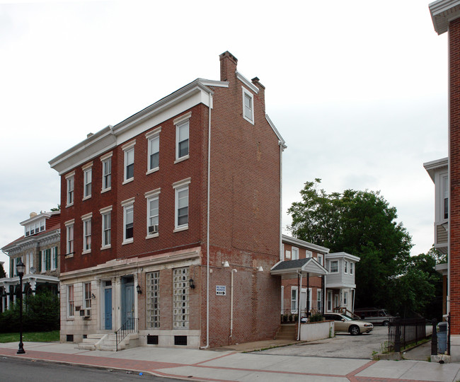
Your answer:
[[[350,333],[336,332],[335,337],[312,342],[303,342],[299,345],[276,347],[260,351],[260,354],[308,356],[308,357],[335,357],[372,359],[374,352],[381,353],[385,342],[388,341],[388,328],[375,326],[369,334],[350,335]]]

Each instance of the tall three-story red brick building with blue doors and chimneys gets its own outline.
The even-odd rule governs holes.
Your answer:
[[[61,175],[61,340],[125,323],[140,345],[273,338],[281,157],[265,88],[220,55],[197,79],[50,161]]]

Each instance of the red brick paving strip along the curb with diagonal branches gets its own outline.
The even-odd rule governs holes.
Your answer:
[[[234,380],[224,380],[222,378],[200,378],[195,376],[180,376],[176,374],[168,374],[161,369],[176,368],[176,367],[196,367],[202,369],[215,369],[215,370],[233,370],[233,371],[253,371],[255,373],[268,373],[268,374],[290,374],[299,376],[322,376],[330,378],[345,377],[350,382],[435,382],[435,381],[419,381],[415,379],[398,379],[398,378],[381,378],[381,377],[369,377],[369,376],[356,376],[356,374],[372,366],[377,361],[369,361],[367,364],[360,366],[358,369],[350,372],[347,375],[340,374],[319,374],[319,373],[303,373],[299,371],[277,371],[277,370],[265,370],[265,369],[247,369],[247,368],[236,368],[236,367],[225,367],[225,366],[207,366],[205,365],[209,361],[216,359],[222,359],[229,357],[236,352],[224,354],[220,357],[207,359],[205,361],[197,362],[195,364],[178,364],[173,362],[158,362],[158,361],[139,361],[136,359],[117,359],[109,357],[93,357],[84,354],[64,354],[64,353],[53,353],[53,352],[40,352],[36,350],[28,350],[26,354],[16,354],[16,349],[0,348],[0,356],[15,357],[22,359],[36,359],[40,361],[52,361],[63,364],[73,364],[80,366],[96,366],[104,369],[117,369],[127,370],[136,372],[148,372],[156,376],[168,376],[173,378],[186,378],[188,380],[197,381],[221,381],[221,382],[234,382]]]

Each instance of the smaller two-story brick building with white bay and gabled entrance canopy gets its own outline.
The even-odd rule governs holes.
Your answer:
[[[272,268],[272,274],[282,276],[282,314],[297,315],[300,309],[301,316],[333,311],[351,316],[355,308],[355,265],[359,261],[360,257],[329,253],[328,248],[283,235],[280,262]]]

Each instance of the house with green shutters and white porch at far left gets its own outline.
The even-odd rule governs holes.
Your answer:
[[[1,306],[4,309],[8,309],[18,296],[16,264],[19,259],[25,265],[25,294],[35,294],[40,289],[48,289],[57,294],[59,290],[59,211],[40,214],[32,212],[29,219],[21,222],[21,226],[24,227],[24,236],[1,248],[10,257],[10,277],[0,279]]]

